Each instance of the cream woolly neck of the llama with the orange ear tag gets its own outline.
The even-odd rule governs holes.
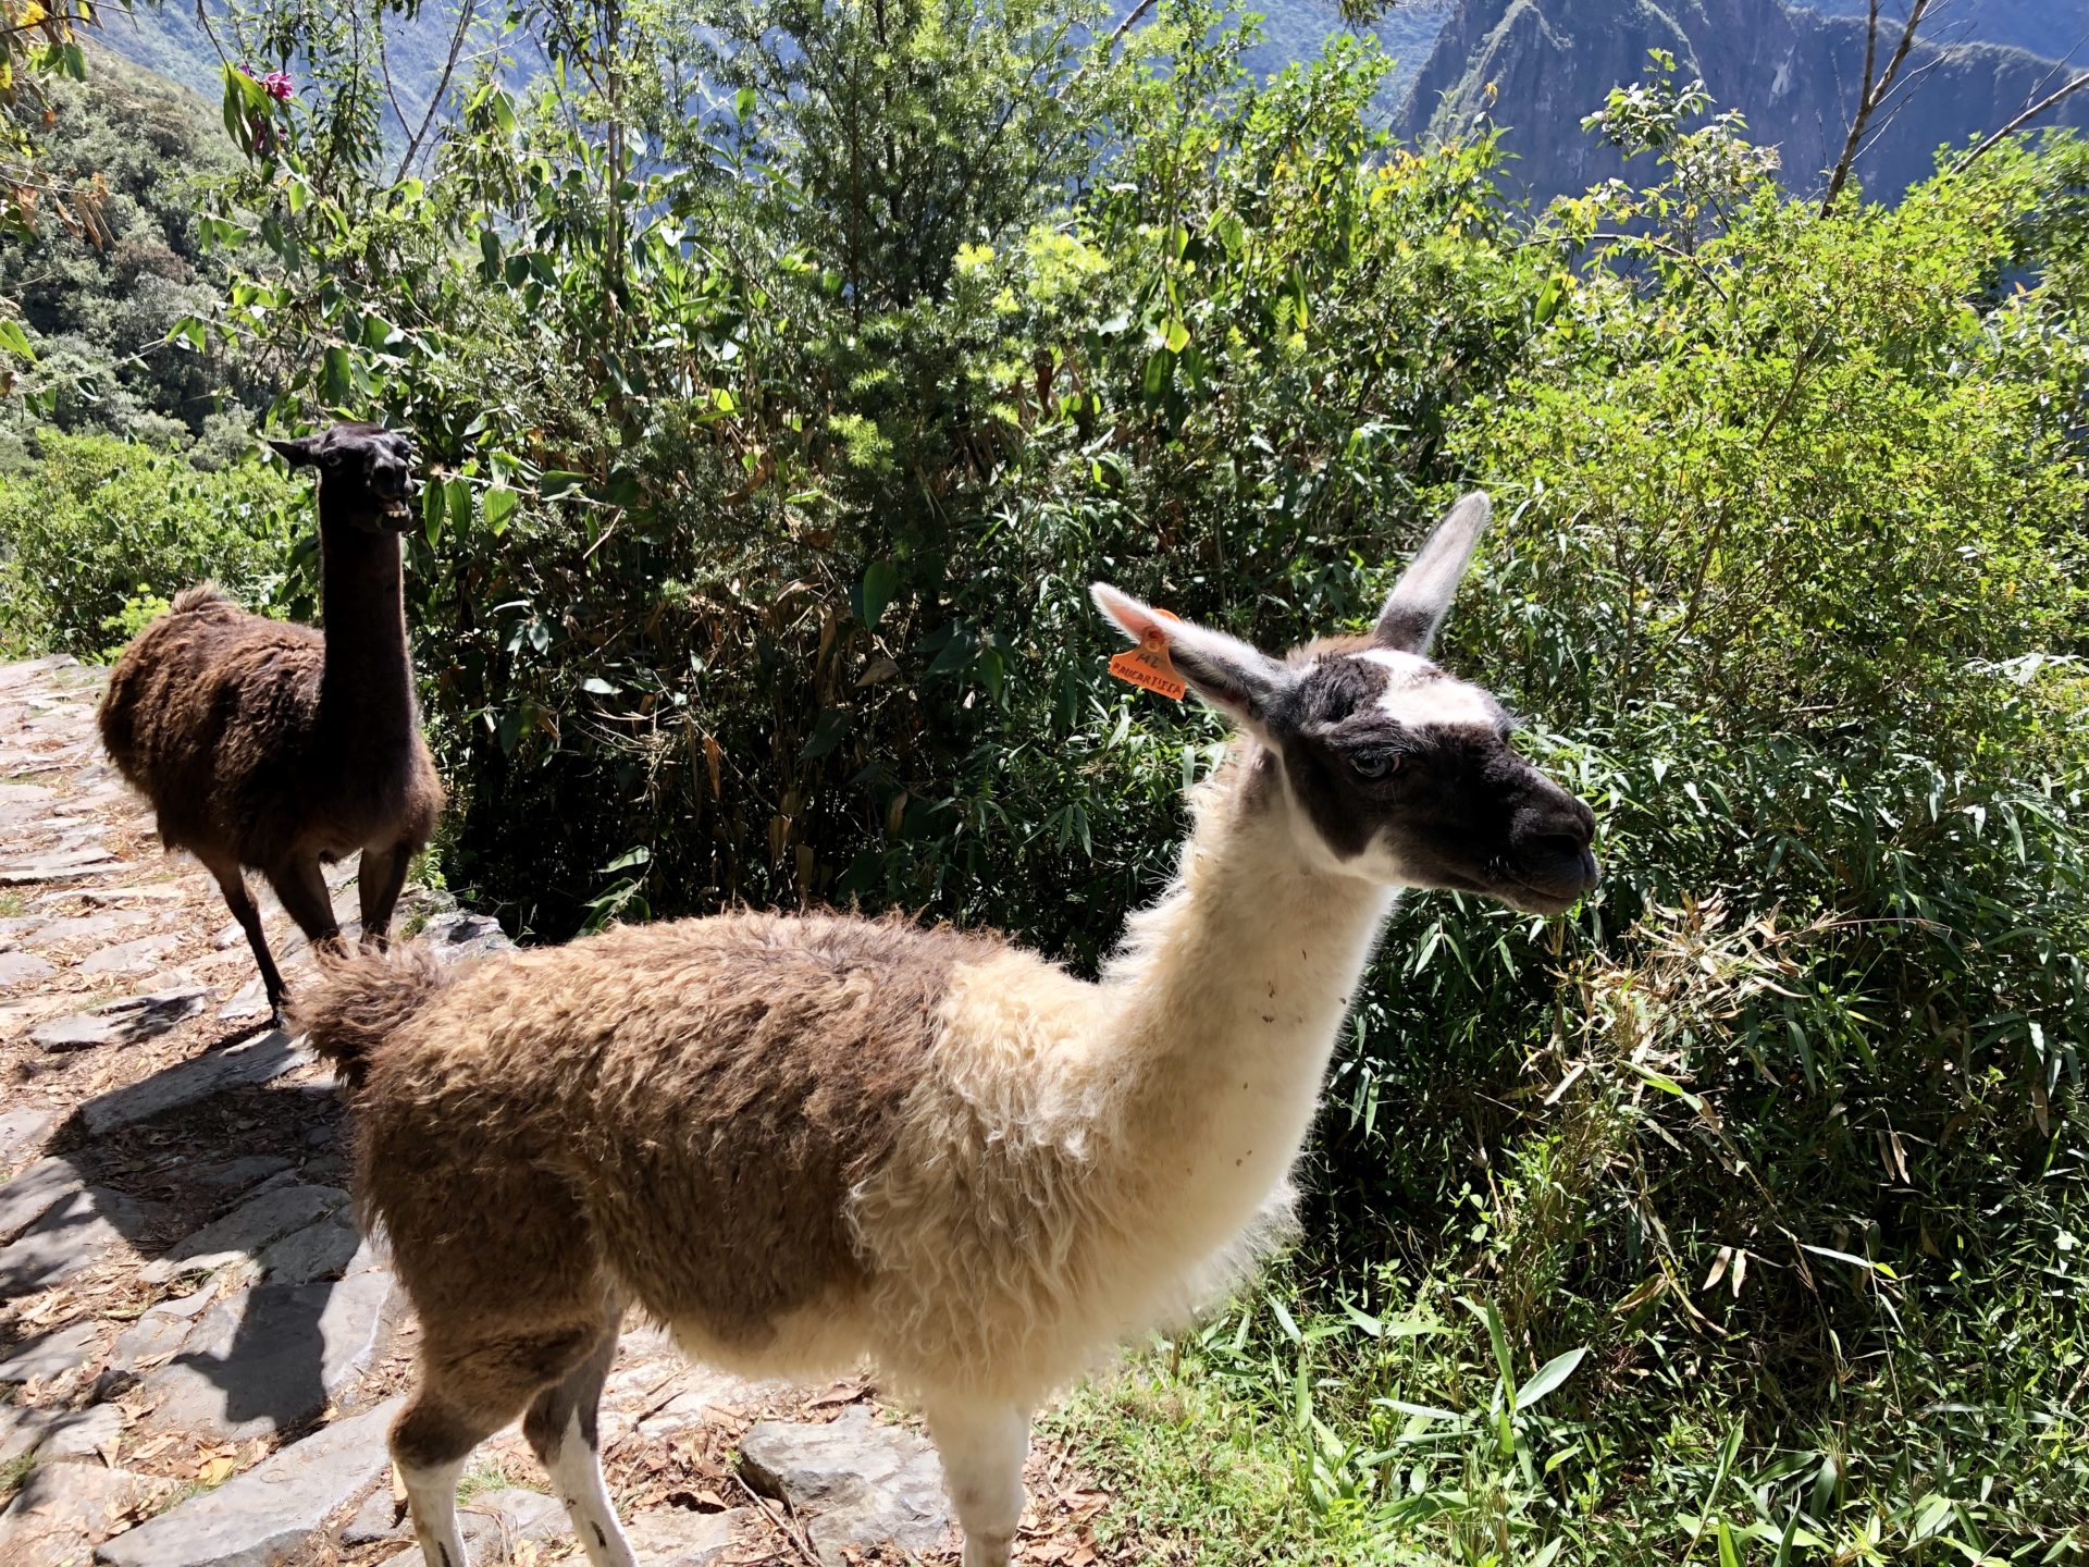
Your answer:
[[[1230,1245],[1283,1185],[1393,905],[1304,861],[1281,779],[1239,744],[1101,986],[1126,1174],[1145,1233],[1187,1256]]]

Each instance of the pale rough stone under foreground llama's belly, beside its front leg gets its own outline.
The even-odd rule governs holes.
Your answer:
[[[827,1567],[844,1567],[850,1546],[930,1550],[950,1523],[936,1448],[861,1404],[829,1425],[760,1421],[740,1460],[754,1490],[811,1519],[806,1540]]]

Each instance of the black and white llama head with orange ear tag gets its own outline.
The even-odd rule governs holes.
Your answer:
[[[1377,627],[1270,658],[1097,583],[1134,641],[1161,639],[1191,689],[1260,744],[1299,852],[1387,886],[1483,892],[1558,913],[1596,886],[1596,817],[1510,746],[1502,704],[1429,660],[1487,524],[1466,495],[1402,575]]]

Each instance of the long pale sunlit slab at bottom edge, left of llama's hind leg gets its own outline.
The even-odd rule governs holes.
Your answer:
[[[393,1398],[272,1454],[238,1479],[119,1534],[94,1552],[107,1567],[272,1567],[376,1479],[391,1456]],[[462,1565],[460,1565],[462,1567]]]

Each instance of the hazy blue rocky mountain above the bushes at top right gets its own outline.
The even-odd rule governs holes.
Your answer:
[[[2076,0],[2066,6],[2079,13]],[[1611,88],[1644,79],[1652,48],[1673,52],[1686,77],[1700,75],[1721,109],[1748,117],[1755,140],[1780,150],[1788,188],[1820,188],[1863,79],[1863,23],[1782,0],[1464,0],[1398,127],[1441,136],[1485,109],[1508,127],[1512,178],[1535,201],[1586,190],[1623,163],[1579,121]],[[1899,198],[1932,171],[1939,144],[2001,125],[2051,90],[2060,67],[1995,44],[1918,44],[1914,71],[1905,113],[1886,115],[1857,161],[1874,198]],[[2089,123],[2089,94],[2047,121]]]

